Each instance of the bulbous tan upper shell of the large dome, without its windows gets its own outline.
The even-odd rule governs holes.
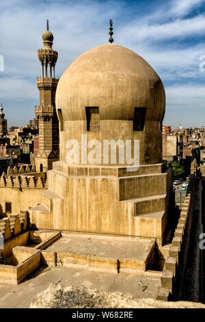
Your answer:
[[[98,107],[101,120],[132,120],[135,108],[147,108],[146,121],[162,121],[165,112],[165,90],[154,69],[113,44],[74,60],[59,79],[55,101],[64,121],[85,121],[85,107]]]

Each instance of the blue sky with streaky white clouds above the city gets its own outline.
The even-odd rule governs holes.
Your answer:
[[[205,125],[205,0],[1,0],[0,103],[9,126],[35,117],[37,51],[47,18],[59,53],[56,77],[83,52],[108,42],[111,18],[114,43],[141,55],[161,77],[163,123]]]

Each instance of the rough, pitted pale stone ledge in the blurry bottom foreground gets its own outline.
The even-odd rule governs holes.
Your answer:
[[[205,306],[187,301],[137,299],[119,292],[109,293],[72,286],[62,288],[59,284],[51,284],[33,299],[30,308],[205,308]]]

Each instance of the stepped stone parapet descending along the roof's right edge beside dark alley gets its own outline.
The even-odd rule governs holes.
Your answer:
[[[172,244],[169,247],[169,256],[165,260],[161,276],[161,286],[158,289],[156,299],[169,301],[176,299],[178,296],[180,277],[182,277],[184,264],[187,261],[187,251],[189,248],[194,191],[195,177],[191,175],[187,188],[187,197],[185,197],[184,203],[182,203],[180,218],[174,231]]]

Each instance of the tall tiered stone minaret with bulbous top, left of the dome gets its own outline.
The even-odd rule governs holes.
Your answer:
[[[59,160],[59,121],[55,110],[55,91],[59,79],[55,78],[57,51],[52,49],[53,34],[47,30],[42,34],[44,49],[38,50],[42,65],[42,77],[37,78],[40,90],[40,106],[36,106],[36,118],[39,121],[39,150],[36,156],[36,170],[47,171]]]

